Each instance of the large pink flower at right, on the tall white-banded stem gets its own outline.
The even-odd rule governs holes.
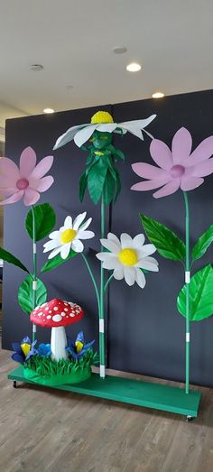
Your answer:
[[[159,139],[153,139],[150,153],[159,167],[136,162],[132,165],[134,172],[144,179],[136,183],[131,190],[145,191],[162,187],[153,193],[155,199],[171,195],[180,189],[187,191],[199,187],[203,177],[213,172],[213,136],[204,139],[191,153],[191,135],[186,128],[174,134],[171,150]]]

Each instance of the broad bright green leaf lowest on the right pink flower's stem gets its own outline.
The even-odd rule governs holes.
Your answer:
[[[186,286],[183,286],[177,300],[177,307],[186,317]],[[200,321],[213,314],[213,268],[206,265],[190,280],[190,321]]]

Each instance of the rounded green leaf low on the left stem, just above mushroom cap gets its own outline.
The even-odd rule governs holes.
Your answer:
[[[32,275],[28,275],[19,287],[18,302],[24,313],[30,315],[35,308],[33,304]],[[47,290],[40,279],[37,279],[36,307],[42,305],[47,300]]]

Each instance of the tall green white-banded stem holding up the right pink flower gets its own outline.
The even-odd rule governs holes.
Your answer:
[[[186,264],[185,270],[188,273],[186,280],[186,381],[185,390],[186,393],[190,392],[190,208],[188,194],[186,191],[183,192],[185,202],[185,232],[186,232]]]

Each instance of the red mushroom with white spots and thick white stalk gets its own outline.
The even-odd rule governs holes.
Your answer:
[[[84,310],[76,303],[53,299],[32,310],[31,321],[35,325],[51,328],[51,358],[67,359],[67,337],[64,327],[76,323],[84,316]]]

